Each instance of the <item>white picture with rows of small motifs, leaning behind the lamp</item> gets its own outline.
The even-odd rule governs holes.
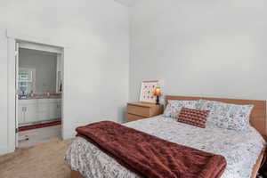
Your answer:
[[[158,86],[158,80],[143,81],[141,86],[140,101],[156,103],[157,97],[154,96],[153,91]]]

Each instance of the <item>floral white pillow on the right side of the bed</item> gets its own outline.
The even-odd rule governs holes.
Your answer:
[[[206,124],[229,130],[246,131],[253,105],[238,105],[220,101],[200,100],[200,108],[210,110]]]

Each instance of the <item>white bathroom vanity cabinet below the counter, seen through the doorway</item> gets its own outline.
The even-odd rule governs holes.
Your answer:
[[[19,125],[61,118],[61,99],[19,100]]]

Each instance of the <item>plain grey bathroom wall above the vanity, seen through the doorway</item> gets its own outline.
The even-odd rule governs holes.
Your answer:
[[[56,92],[56,53],[46,53],[20,48],[19,67],[36,69],[36,91],[34,93]]]

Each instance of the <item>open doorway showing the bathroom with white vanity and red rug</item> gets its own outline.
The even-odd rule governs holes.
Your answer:
[[[16,44],[16,147],[61,139],[63,50]]]

